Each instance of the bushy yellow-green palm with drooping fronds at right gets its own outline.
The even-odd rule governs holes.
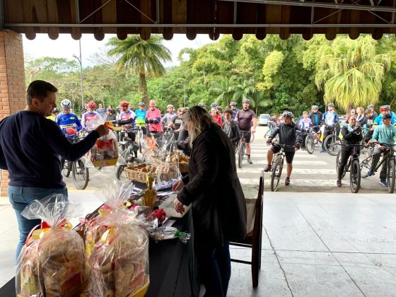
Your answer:
[[[325,91],[325,103],[334,101],[342,110],[378,102],[389,54],[375,54],[370,36],[349,40],[339,37],[326,45],[319,62],[315,83]]]

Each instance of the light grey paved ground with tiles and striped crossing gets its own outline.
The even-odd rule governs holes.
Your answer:
[[[257,136],[264,134],[260,127]],[[238,170],[245,187],[257,187],[267,151],[253,144],[253,164]],[[250,266],[233,263],[228,296],[396,296],[396,196],[378,177],[363,180],[359,194],[335,187],[335,157],[296,153],[291,186],[264,193],[262,269],[252,289]],[[91,170],[87,190],[70,199],[88,213],[100,204],[100,188],[114,170]],[[269,176],[269,175],[268,175]],[[264,185],[268,190],[268,176]],[[247,192],[254,193],[255,190]],[[365,194],[371,193],[371,194]],[[0,198],[0,286],[13,276],[18,228],[11,206]],[[232,248],[233,257],[250,251]]]

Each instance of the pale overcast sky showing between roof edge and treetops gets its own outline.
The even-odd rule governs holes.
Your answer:
[[[100,47],[105,47],[107,40],[115,35],[105,35],[102,41],[95,40],[93,34],[83,34],[81,37],[81,56],[83,66],[88,66],[91,62],[88,58],[91,54],[97,52]],[[202,47],[209,42],[209,35],[197,35],[195,40],[188,40],[185,35],[175,34],[172,40],[164,40],[163,44],[168,47],[172,53],[172,63],[165,66],[178,65],[177,55],[184,47],[192,47],[194,49]],[[32,58],[39,57],[63,57],[73,59],[73,54],[79,55],[78,40],[71,38],[69,34],[59,34],[57,40],[51,40],[47,34],[37,34],[34,40],[28,40],[23,35],[23,52]]]

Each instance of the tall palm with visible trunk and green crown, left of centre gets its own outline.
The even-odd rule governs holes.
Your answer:
[[[128,35],[125,40],[110,38],[107,45],[112,47],[107,52],[118,57],[115,66],[122,69],[126,76],[131,73],[139,75],[139,92],[141,100],[148,103],[146,75],[161,76],[165,68],[161,62],[171,61],[170,50],[163,44],[163,37],[153,35],[149,40],[142,40],[139,35]]]

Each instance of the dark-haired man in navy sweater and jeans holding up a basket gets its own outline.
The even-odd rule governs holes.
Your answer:
[[[40,223],[21,216],[25,206],[50,194],[67,196],[60,158],[78,160],[109,131],[101,125],[82,141],[71,144],[57,123],[45,118],[57,107],[55,93],[57,88],[51,83],[33,81],[26,93],[25,110],[0,122],[0,168],[8,170],[8,199],[20,233],[17,258],[28,233]]]

